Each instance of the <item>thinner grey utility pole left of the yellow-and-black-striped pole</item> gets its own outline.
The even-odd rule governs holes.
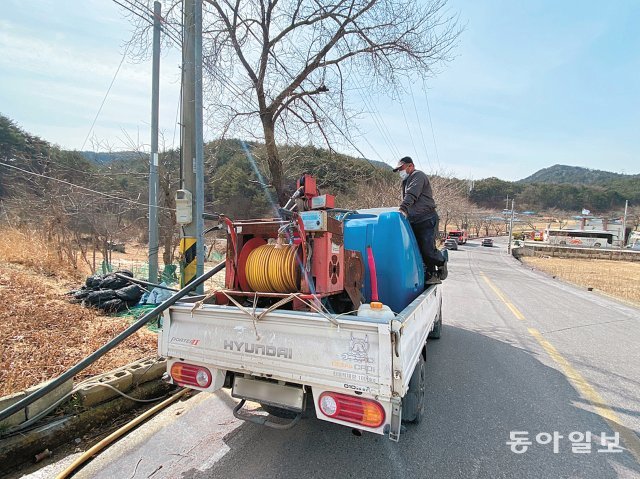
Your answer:
[[[160,104],[160,2],[153,4],[151,157],[149,158],[149,282],[158,281],[158,116]]]

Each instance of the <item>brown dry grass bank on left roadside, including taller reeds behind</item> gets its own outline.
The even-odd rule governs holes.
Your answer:
[[[87,271],[61,262],[37,232],[0,232],[0,396],[58,376],[128,326],[122,318],[70,304],[64,292]],[[85,378],[156,353],[138,331],[81,373]]]

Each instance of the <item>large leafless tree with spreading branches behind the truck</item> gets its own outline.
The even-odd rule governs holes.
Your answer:
[[[338,136],[351,142],[348,93],[397,92],[403,79],[426,79],[451,59],[460,34],[447,0],[205,1],[206,115],[239,136],[261,128],[281,203],[278,140],[320,140],[330,148]],[[175,36],[180,8],[174,3],[167,12],[165,29]],[[149,25],[139,17],[132,15],[140,27],[133,40],[144,55]]]

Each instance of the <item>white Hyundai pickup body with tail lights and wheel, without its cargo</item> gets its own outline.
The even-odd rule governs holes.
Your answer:
[[[259,317],[260,308],[181,302],[164,313],[159,352],[174,384],[230,387],[241,419],[287,428],[308,408],[398,441],[401,423],[423,415],[426,343],[440,337],[441,306],[438,285],[393,319],[285,310]],[[292,420],[248,413],[246,400]]]

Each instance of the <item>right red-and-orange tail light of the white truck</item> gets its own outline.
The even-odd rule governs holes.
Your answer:
[[[380,427],[385,419],[384,408],[380,403],[346,394],[324,392],[318,399],[318,406],[322,414],[331,419],[365,427]]]

